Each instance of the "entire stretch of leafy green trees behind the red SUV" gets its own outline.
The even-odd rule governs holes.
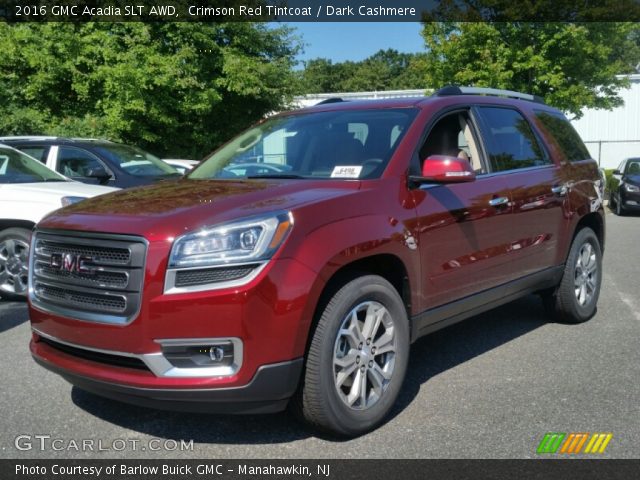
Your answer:
[[[502,0],[500,0],[502,1]],[[0,135],[104,137],[201,158],[296,94],[506,88],[574,116],[612,108],[640,62],[637,23],[431,22],[425,52],[318,58],[256,23],[0,23]]]

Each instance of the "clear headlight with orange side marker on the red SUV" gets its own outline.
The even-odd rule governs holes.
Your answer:
[[[169,267],[218,266],[271,258],[293,225],[290,212],[252,217],[178,237]]]

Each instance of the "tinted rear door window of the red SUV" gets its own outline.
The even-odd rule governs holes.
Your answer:
[[[550,164],[529,122],[516,110],[477,109],[485,133],[486,149],[494,172]]]

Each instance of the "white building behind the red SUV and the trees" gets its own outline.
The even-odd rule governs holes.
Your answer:
[[[613,110],[587,108],[579,120],[572,123],[586,144],[591,156],[603,168],[616,168],[628,157],[640,157],[640,73],[628,76],[631,85],[622,90],[624,104]],[[371,100],[425,95],[425,90],[392,90],[386,92],[319,93],[296,97],[295,106],[310,107],[330,98]]]

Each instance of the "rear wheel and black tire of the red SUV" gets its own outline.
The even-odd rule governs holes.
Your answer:
[[[587,247],[587,245],[590,246],[591,252],[593,252],[594,255],[595,270],[585,278],[582,277],[581,272],[584,271],[586,273],[589,268],[583,269],[579,266],[578,260],[581,253],[588,251],[589,247]],[[586,250],[583,250],[583,248]],[[581,264],[582,263],[583,260],[581,260]],[[585,294],[582,296],[584,303],[580,299],[582,289],[577,288],[577,285],[582,285],[583,281],[585,282]],[[592,285],[593,288],[589,288],[588,285]],[[580,230],[573,239],[569,256],[564,266],[562,280],[558,284],[557,289],[553,292],[548,292],[542,297],[545,309],[554,320],[561,323],[585,322],[593,317],[596,312],[601,285],[602,250],[600,248],[600,241],[593,230],[585,227]],[[578,293],[577,290],[579,290],[580,293]],[[588,297],[590,290],[591,296]]]

